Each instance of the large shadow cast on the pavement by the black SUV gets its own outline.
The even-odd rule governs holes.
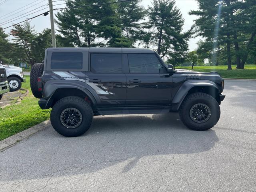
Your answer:
[[[83,136],[66,138],[50,126],[1,152],[1,177],[17,181],[86,174],[123,162],[122,174],[142,158],[171,160],[175,154],[208,151],[216,142],[214,130],[189,130],[176,113],[96,116]]]

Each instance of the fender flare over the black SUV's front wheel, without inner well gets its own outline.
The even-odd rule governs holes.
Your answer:
[[[211,86],[219,90],[216,83],[209,80],[188,80],[185,81],[178,89],[174,98],[172,99],[172,111],[177,111],[180,108],[184,98],[187,96],[188,91],[196,86]]]

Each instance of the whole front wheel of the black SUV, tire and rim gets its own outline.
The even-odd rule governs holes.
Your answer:
[[[192,130],[204,131],[212,128],[220,118],[220,106],[209,94],[188,95],[179,109],[182,122]]]

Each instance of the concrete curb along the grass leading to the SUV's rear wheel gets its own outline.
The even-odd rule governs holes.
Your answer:
[[[0,141],[0,152],[14,146],[18,142],[24,140],[25,138],[30,137],[31,135],[44,130],[45,128],[50,126],[50,120],[46,120],[40,124],[37,124],[33,127],[30,127],[22,132],[19,132],[15,135],[12,135],[2,141]]]

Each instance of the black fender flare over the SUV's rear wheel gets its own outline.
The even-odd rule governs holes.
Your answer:
[[[100,103],[100,98],[98,94],[95,92],[94,89],[92,89],[90,86],[85,84],[83,81],[78,80],[48,80],[44,84],[43,89],[43,97],[44,99],[47,99],[46,103],[46,109],[50,108],[53,98],[52,96],[56,92],[56,90],[60,88],[74,88],[81,90],[84,92],[92,101],[93,106],[96,106],[98,103]]]

